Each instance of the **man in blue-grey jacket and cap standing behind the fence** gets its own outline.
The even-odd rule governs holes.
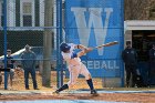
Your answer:
[[[25,51],[21,54],[21,63],[24,70],[24,85],[25,90],[29,90],[29,73],[32,76],[33,89],[38,89],[37,79],[35,79],[35,53],[30,50],[30,45],[24,47]]]

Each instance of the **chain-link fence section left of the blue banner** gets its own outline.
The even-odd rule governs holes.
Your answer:
[[[54,8],[45,7],[46,3]],[[6,76],[9,72],[1,71],[0,75],[2,79],[0,81],[0,87],[3,89],[4,85],[7,85],[8,90],[25,89],[21,54],[25,51],[24,47],[27,44],[31,47],[31,51],[37,55],[35,74],[38,87],[43,87],[43,80],[46,80],[43,79],[43,75],[49,74],[44,73],[46,72],[44,68],[48,68],[46,70],[50,70],[50,75],[46,75],[51,78],[49,79],[50,82],[48,86],[56,86],[56,1],[7,0],[7,14],[4,13],[4,0],[0,0],[0,66],[1,69],[6,69],[4,61],[7,60],[7,64],[10,62],[10,59],[6,59],[4,56],[4,53],[8,53],[4,51],[4,47],[7,47],[7,50],[11,50],[11,56],[13,58],[11,60],[14,61],[14,73],[10,79]],[[44,12],[45,9],[49,9],[50,11],[48,12],[51,13],[46,14],[46,12]],[[7,19],[7,28],[4,28],[4,18]],[[48,21],[45,20],[46,18],[49,18]],[[48,24],[46,22],[50,23]],[[4,34],[4,31],[7,31],[7,34]],[[7,42],[4,37],[7,37]],[[48,66],[45,66],[46,63],[49,63]],[[6,82],[7,80],[8,82]],[[29,74],[29,84],[30,89],[33,89],[31,74]]]

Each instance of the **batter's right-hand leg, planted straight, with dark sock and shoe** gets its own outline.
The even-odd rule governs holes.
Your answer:
[[[91,90],[91,94],[97,95],[97,92],[94,89],[91,73],[89,72],[89,70],[86,69],[86,66],[84,64],[81,64],[81,72],[80,73],[85,76],[86,83]]]

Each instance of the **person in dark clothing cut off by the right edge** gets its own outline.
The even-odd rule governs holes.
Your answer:
[[[155,75],[155,43],[149,50],[149,70],[148,70],[148,86],[152,84],[152,78]]]

